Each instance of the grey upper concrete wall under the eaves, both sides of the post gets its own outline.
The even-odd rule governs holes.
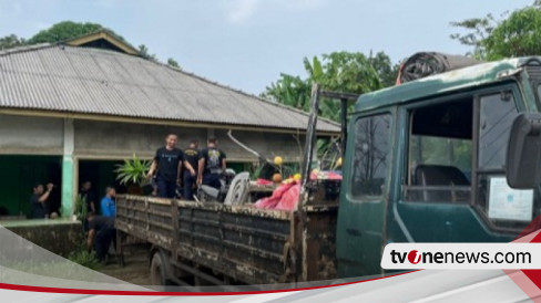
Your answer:
[[[218,137],[220,146],[232,161],[253,161],[256,158],[233,143],[226,129],[198,127],[169,127],[95,121],[74,121],[73,156],[80,158],[123,159],[133,156],[152,157],[164,144],[169,133],[178,135],[178,146],[196,137],[201,146],[208,136]],[[233,130],[235,138],[267,157],[282,156],[296,161],[299,148],[290,134]],[[304,136],[300,136],[304,145]],[[0,114],[0,154],[63,155],[64,121],[61,118],[29,117]]]

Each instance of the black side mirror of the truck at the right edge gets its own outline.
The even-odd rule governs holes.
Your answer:
[[[512,188],[541,185],[541,114],[518,115],[509,136],[506,177]]]

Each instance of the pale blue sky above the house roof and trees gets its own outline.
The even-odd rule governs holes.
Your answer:
[[[449,3],[452,2],[452,3]],[[305,56],[384,51],[463,54],[452,21],[500,17],[533,0],[0,0],[0,36],[30,38],[65,20],[95,22],[161,61],[259,94],[280,73],[306,77]]]

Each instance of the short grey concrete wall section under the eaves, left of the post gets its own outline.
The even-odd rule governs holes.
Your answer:
[[[0,154],[62,155],[63,129],[61,118],[0,114]]]

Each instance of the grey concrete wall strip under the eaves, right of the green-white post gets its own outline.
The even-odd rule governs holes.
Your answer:
[[[137,125],[93,121],[75,121],[74,156],[80,158],[103,157],[122,159],[132,157],[152,157],[169,133],[178,135],[178,146],[187,146],[190,138],[198,138],[204,146],[208,136],[215,135],[221,148],[229,161],[253,161],[256,157],[233,143],[225,129],[169,127],[160,125]],[[265,156],[282,156],[286,161],[296,161],[299,148],[290,134],[234,130],[235,138]],[[304,136],[300,136],[304,145]]]

